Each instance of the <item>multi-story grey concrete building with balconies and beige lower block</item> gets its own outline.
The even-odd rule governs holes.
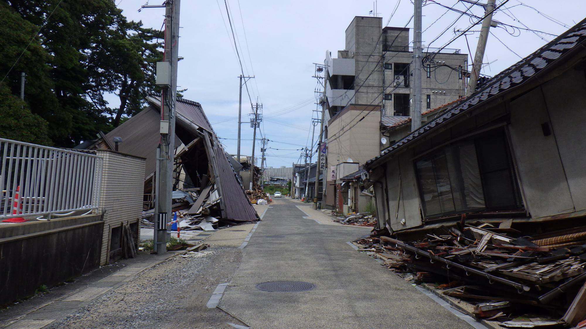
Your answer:
[[[380,17],[356,16],[346,29],[345,50],[339,50],[337,58],[326,52],[328,174],[322,207],[337,208],[342,181],[332,174],[336,166],[343,162],[362,165],[378,155],[393,142],[381,138],[381,129],[411,116],[413,47],[409,30],[383,28]],[[468,64],[468,54],[458,49],[424,48],[424,56],[423,112],[465,94]]]

